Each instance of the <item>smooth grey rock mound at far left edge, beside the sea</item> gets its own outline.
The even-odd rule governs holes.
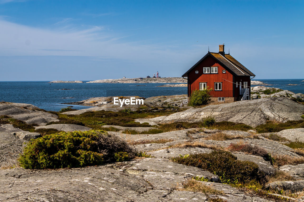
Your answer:
[[[51,121],[59,121],[58,116],[25,103],[0,103],[0,116],[6,115],[26,123],[44,126]]]

